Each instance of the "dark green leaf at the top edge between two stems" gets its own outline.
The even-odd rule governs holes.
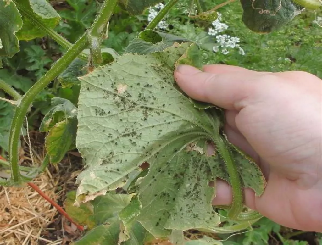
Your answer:
[[[160,3],[160,0],[120,0],[119,5],[126,9],[130,14],[143,14],[144,10],[148,7]]]

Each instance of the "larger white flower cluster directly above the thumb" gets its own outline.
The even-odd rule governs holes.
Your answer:
[[[237,48],[239,53],[245,55],[244,50],[239,45],[240,39],[238,37],[232,37],[227,34],[219,34],[228,29],[228,25],[220,22],[221,14],[218,13],[218,19],[213,21],[212,27],[208,29],[208,34],[215,36],[217,45],[213,46],[213,52],[219,52],[220,49],[223,54],[228,54],[229,49]]]

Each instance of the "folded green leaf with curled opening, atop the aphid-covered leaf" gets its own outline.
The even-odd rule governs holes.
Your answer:
[[[133,39],[126,48],[127,53],[148,54],[163,51],[172,46],[175,42],[183,43],[190,40],[172,34],[154,30],[142,31],[138,38]]]

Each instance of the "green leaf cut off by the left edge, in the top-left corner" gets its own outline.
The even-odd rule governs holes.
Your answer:
[[[11,0],[0,0],[0,56],[12,57],[19,52],[19,42],[16,37],[22,25],[21,15]]]

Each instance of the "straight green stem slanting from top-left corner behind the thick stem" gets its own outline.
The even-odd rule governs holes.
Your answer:
[[[70,43],[67,39],[59,35],[57,32],[55,32],[52,28],[49,28],[46,26],[43,21],[34,13],[30,13],[30,11],[26,8],[24,8],[23,5],[19,3],[19,1],[14,0],[15,5],[17,6],[19,13],[30,20],[34,25],[36,25],[39,29],[43,30],[46,32],[55,42],[57,42],[59,45],[61,45],[65,49],[70,49],[73,44]],[[80,53],[79,58],[82,60],[87,61],[88,56],[85,53]]]

